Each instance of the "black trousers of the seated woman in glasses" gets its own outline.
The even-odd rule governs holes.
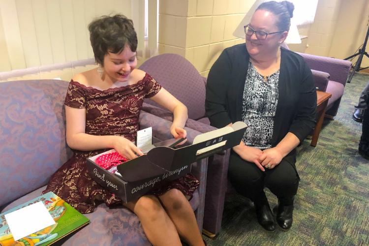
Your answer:
[[[282,205],[291,205],[299,187],[294,167],[284,158],[276,167],[265,168],[263,172],[255,163],[242,159],[234,151],[231,151],[229,158],[228,179],[238,193],[255,205],[268,203],[264,187],[269,188]]]

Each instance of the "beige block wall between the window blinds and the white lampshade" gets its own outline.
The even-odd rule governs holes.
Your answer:
[[[175,53],[202,76],[223,49],[244,39],[232,35],[255,0],[160,0],[159,54]]]

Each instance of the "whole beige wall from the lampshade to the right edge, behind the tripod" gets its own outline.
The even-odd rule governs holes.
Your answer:
[[[369,0],[319,0],[305,53],[337,59],[354,55],[368,31],[368,13]],[[369,59],[364,56],[361,67],[367,66]]]

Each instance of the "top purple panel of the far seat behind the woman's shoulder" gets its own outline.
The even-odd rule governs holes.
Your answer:
[[[323,71],[331,75],[330,80],[336,81],[343,86],[346,85],[347,76],[350,72],[352,63],[345,60],[314,56],[304,53],[298,53],[301,55],[310,69]]]

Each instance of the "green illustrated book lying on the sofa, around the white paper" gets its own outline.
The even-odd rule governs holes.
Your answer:
[[[34,232],[27,237],[14,241],[10,228],[6,223],[5,216],[13,211],[32,205],[36,202],[43,202],[46,209],[56,222],[42,230]],[[27,203],[15,207],[3,214],[0,214],[0,245],[1,246],[48,246],[58,241],[69,233],[88,224],[90,220],[64,202],[62,198],[48,192]]]

